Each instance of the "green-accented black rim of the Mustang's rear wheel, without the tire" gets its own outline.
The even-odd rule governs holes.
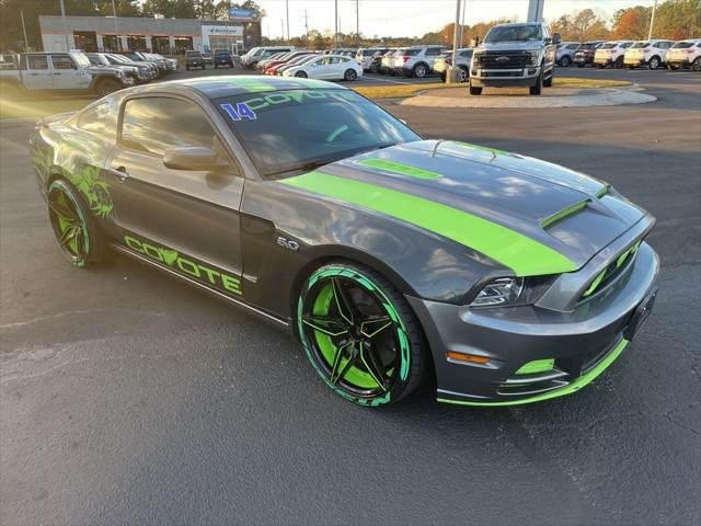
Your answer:
[[[76,266],[83,266],[90,250],[88,227],[78,202],[60,184],[49,187],[48,215],[64,255]]]

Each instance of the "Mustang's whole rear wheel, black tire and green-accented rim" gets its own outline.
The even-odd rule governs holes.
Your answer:
[[[56,179],[48,186],[47,203],[56,242],[69,263],[84,268],[102,262],[106,251],[104,236],[78,191],[67,181]],[[79,230],[67,239],[68,228]]]

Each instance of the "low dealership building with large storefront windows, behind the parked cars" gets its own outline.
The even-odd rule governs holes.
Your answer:
[[[231,21],[124,16],[39,16],[45,52],[147,50],[163,55],[187,49],[232,53],[261,43],[257,13]]]

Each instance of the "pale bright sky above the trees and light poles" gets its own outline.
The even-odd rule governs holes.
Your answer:
[[[283,36],[286,23],[286,0],[256,0],[267,16],[263,21],[263,34],[272,38]],[[340,32],[355,32],[356,0],[337,0]],[[486,22],[514,15],[526,20],[528,0],[467,0],[467,24]],[[654,0],[545,0],[543,18],[554,20],[562,14],[591,8],[609,18],[621,8],[652,5]],[[291,36],[304,33],[304,10],[309,28],[334,28],[334,0],[289,0],[289,27]],[[456,0],[359,0],[360,33],[367,36],[422,36],[438,31],[456,16]]]

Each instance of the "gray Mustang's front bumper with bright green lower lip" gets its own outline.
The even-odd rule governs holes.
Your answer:
[[[634,336],[654,302],[658,271],[657,254],[643,242],[606,293],[570,311],[537,306],[471,309],[407,296],[432,348],[438,400],[513,405],[575,392]],[[490,361],[457,362],[449,352]],[[530,362],[550,359],[550,370],[517,374]]]

